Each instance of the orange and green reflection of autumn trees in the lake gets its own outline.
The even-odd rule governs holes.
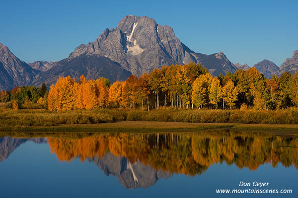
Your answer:
[[[102,158],[111,152],[132,164],[140,161],[155,170],[190,176],[226,162],[256,170],[264,163],[298,168],[298,139],[266,133],[227,130],[199,133],[110,133],[81,139],[48,138],[60,161]],[[281,147],[283,146],[283,147]],[[286,146],[286,147],[285,147]]]

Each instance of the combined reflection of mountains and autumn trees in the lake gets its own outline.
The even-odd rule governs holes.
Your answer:
[[[173,174],[201,175],[215,163],[256,170],[264,163],[298,169],[298,138],[227,130],[198,133],[94,133],[83,138],[0,138],[0,162],[26,141],[48,143],[60,161],[96,164],[129,189]]]

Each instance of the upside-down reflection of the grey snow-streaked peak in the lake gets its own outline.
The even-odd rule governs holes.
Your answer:
[[[98,159],[89,158],[105,175],[116,176],[118,181],[127,189],[148,188],[161,178],[169,178],[172,173],[154,170],[150,165],[145,166],[139,160],[131,163],[126,157],[114,156],[111,152]]]

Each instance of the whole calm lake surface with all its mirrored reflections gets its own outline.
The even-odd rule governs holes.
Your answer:
[[[211,130],[22,136],[0,137],[1,198],[298,197],[297,135]],[[241,181],[250,186],[239,186]],[[292,194],[217,194],[220,189]]]

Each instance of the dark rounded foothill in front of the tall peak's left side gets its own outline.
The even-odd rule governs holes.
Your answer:
[[[111,83],[117,80],[126,80],[131,75],[129,71],[123,69],[119,63],[112,61],[110,58],[81,54],[74,58],[58,61],[51,69],[40,72],[31,84],[40,86],[42,83],[46,83],[49,87],[56,83],[59,76],[69,75],[78,81],[82,74],[87,80],[105,77]]]

